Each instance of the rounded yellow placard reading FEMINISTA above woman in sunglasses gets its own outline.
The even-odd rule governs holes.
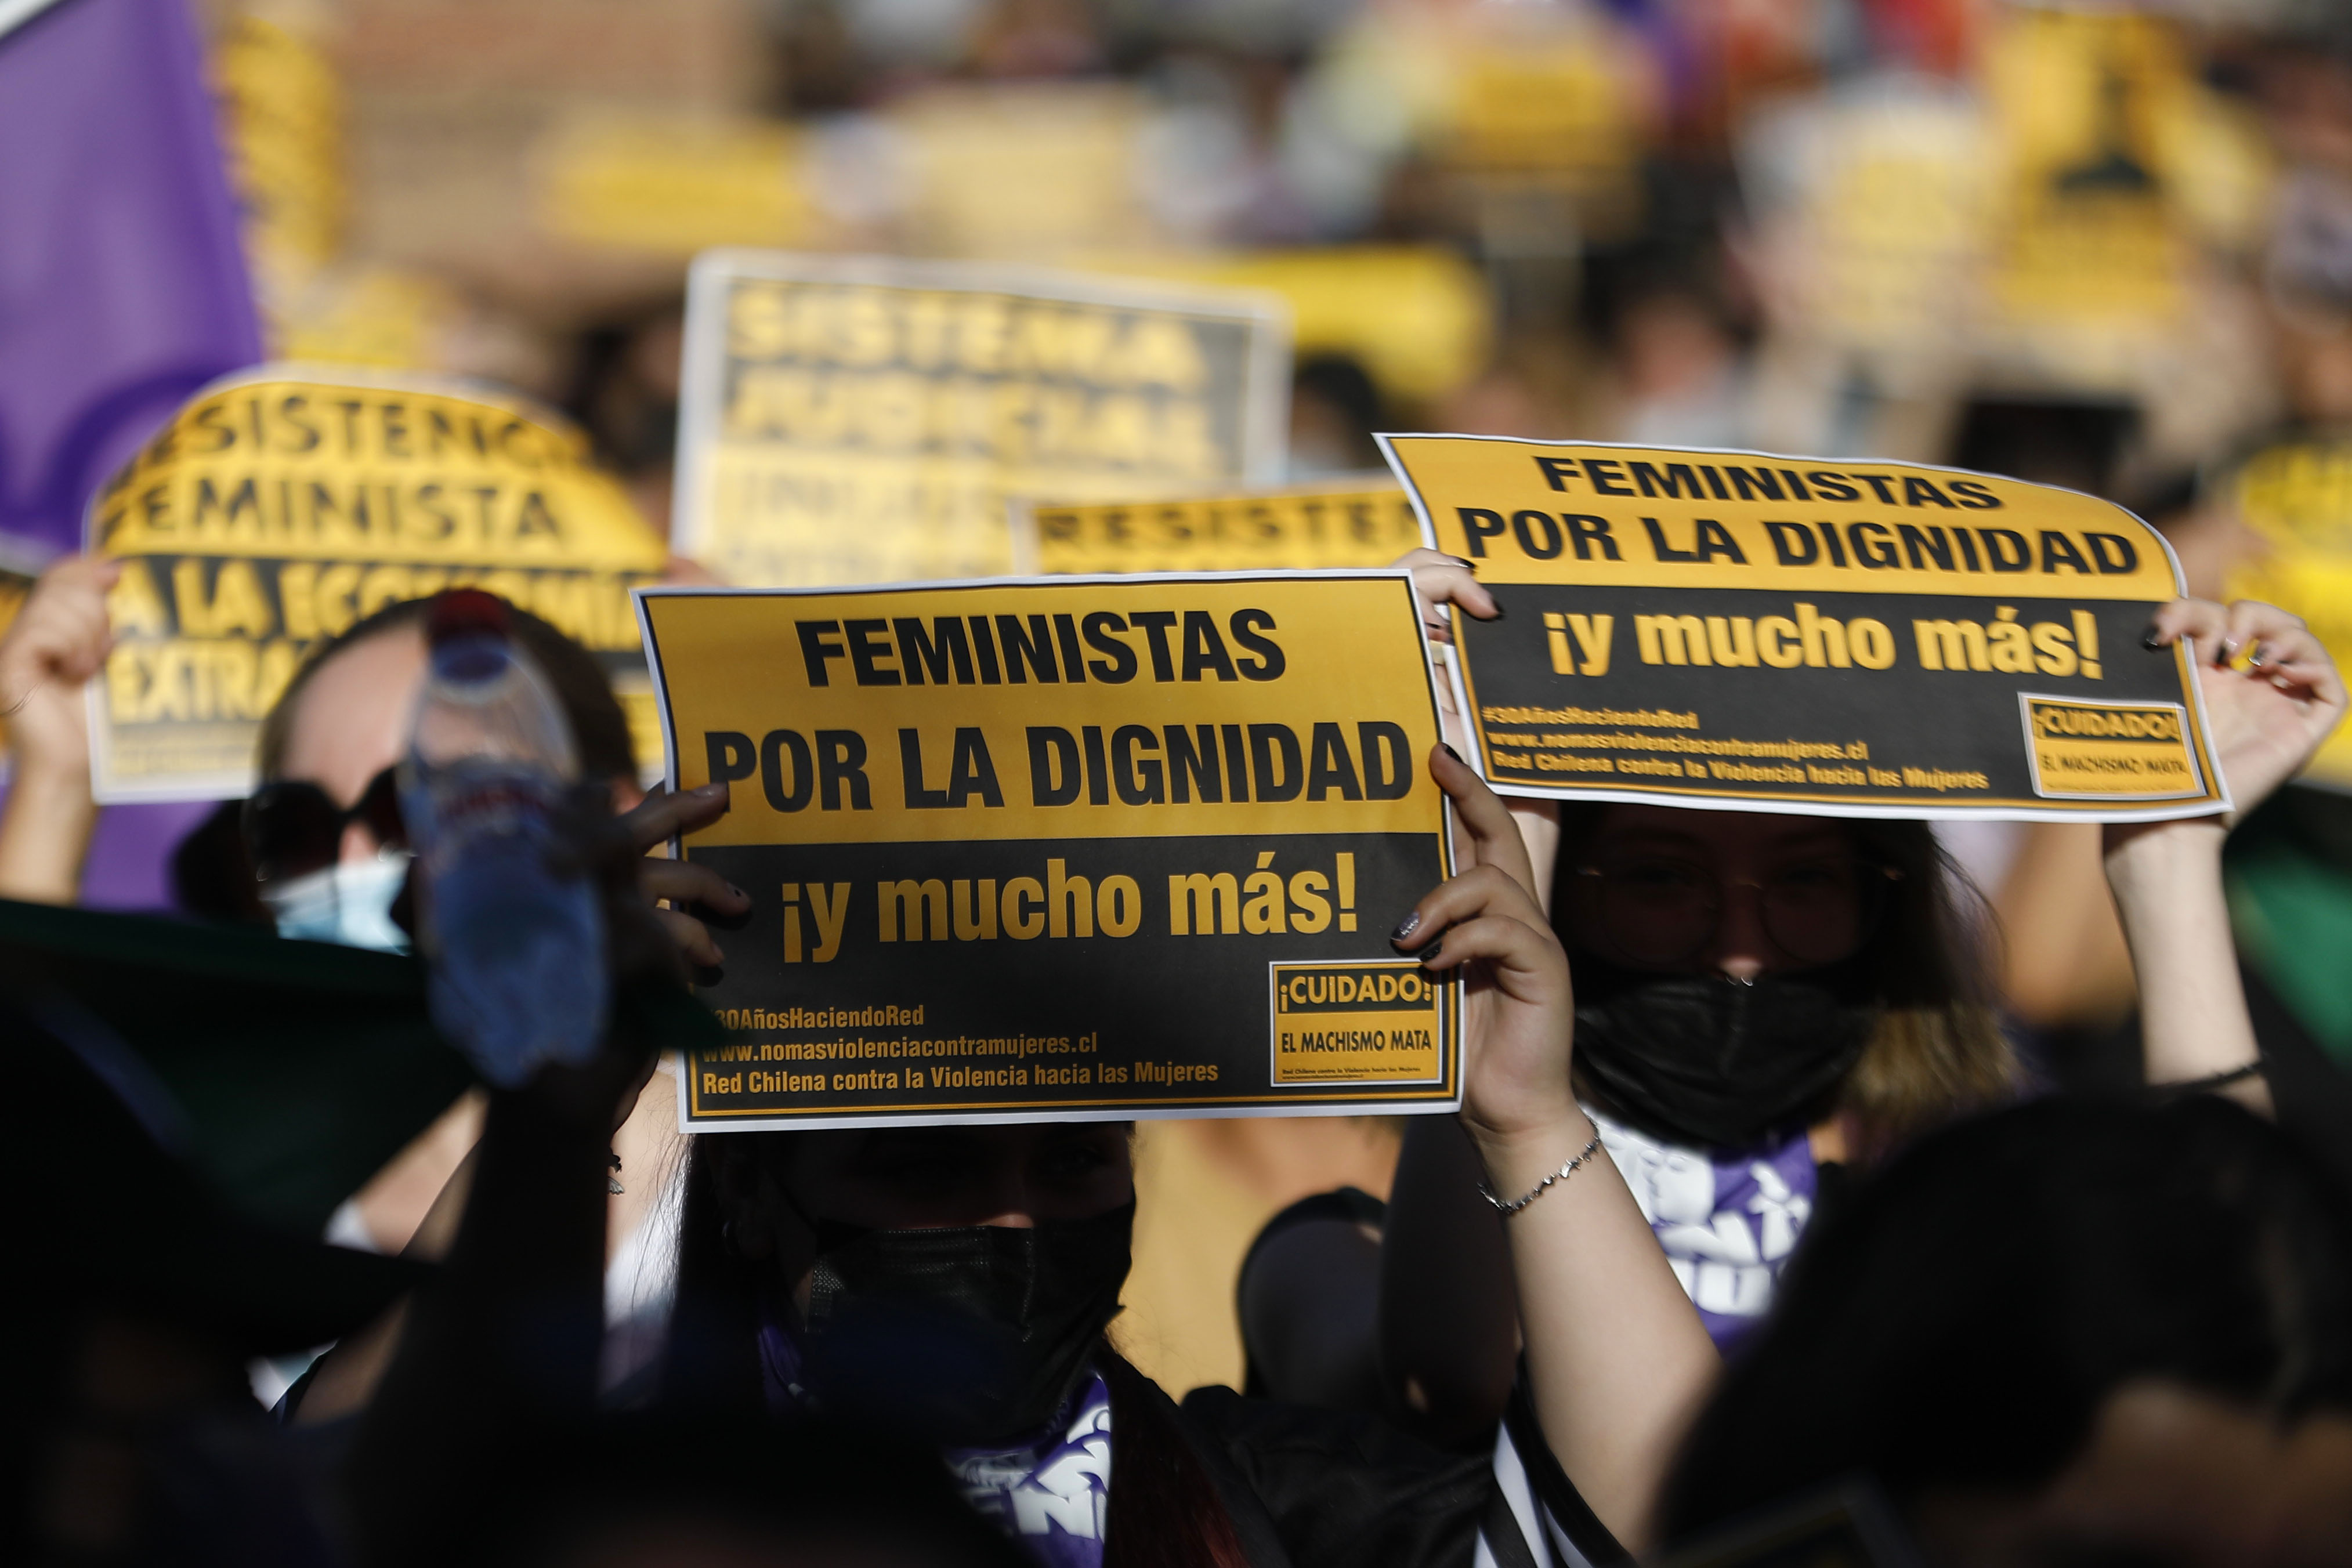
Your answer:
[[[668,548],[555,414],[454,381],[278,364],[216,381],[89,503],[122,562],[92,684],[101,802],[252,790],[303,654],[442,588],[513,599],[593,649],[652,722],[628,590]],[[640,741],[642,748],[642,741]]]

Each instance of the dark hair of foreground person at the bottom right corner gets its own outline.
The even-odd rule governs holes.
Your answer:
[[[1665,1486],[1670,1540],[1870,1474],[2039,1488],[2131,1378],[2352,1403],[2352,1225],[2277,1126],[2042,1100],[1922,1138],[1806,1234]]]

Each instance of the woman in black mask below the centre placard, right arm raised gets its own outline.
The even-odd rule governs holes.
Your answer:
[[[1564,1091],[1566,961],[1519,832],[1461,762],[1439,752],[1430,766],[1477,867],[1406,914],[1397,947],[1435,973],[1470,971],[1463,1124],[1484,1150],[1479,1180],[1512,1199],[1576,1164],[1512,1220],[1505,1267],[1541,1281],[1545,1309],[1531,1314],[1512,1418],[1529,1462],[1503,1469],[1529,1519],[1545,1502],[1609,1556],[1611,1530],[1646,1528],[1663,1434],[1684,1408],[1672,1392],[1705,1366],[1705,1335]],[[922,1434],[983,1514],[1056,1566],[1468,1561],[1479,1533],[1498,1561],[1543,1561],[1486,1455],[1446,1458],[1378,1422],[1230,1389],[1176,1406],[1110,1349],[1134,1220],[1129,1131],[699,1138],[666,1396]],[[1621,1368],[1663,1394],[1653,1420],[1590,1420],[1621,1406],[1606,1387]],[[1562,1467],[1590,1509],[1552,1486]]]

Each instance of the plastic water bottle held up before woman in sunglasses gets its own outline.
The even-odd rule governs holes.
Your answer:
[[[597,889],[550,863],[579,757],[546,675],[508,637],[503,599],[442,595],[428,644],[400,764],[426,999],[482,1077],[513,1088],[541,1063],[595,1056],[612,1004]]]

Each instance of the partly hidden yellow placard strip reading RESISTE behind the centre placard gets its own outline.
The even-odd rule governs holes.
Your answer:
[[[1421,517],[1385,473],[1237,496],[1014,503],[1016,559],[1049,576],[1385,567],[1418,543]]]

